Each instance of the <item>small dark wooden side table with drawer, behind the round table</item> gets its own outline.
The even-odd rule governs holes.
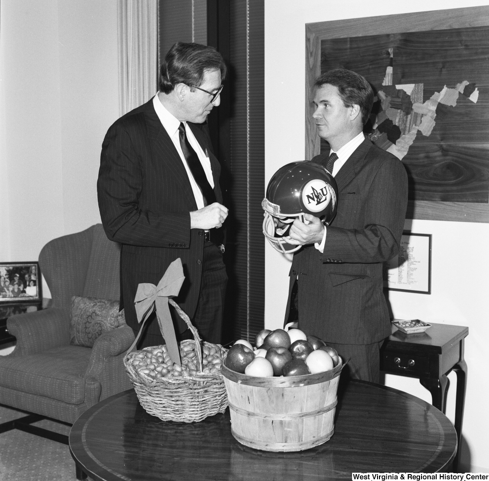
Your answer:
[[[455,430],[458,450],[453,461],[457,472],[462,439],[467,363],[464,360],[464,341],[468,327],[430,323],[424,333],[404,334],[392,325],[392,334],[380,349],[380,370],[398,376],[417,377],[431,393],[432,404],[445,414],[447,375],[455,371],[457,392],[455,402]]]

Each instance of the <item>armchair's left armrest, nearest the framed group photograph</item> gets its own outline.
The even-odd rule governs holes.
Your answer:
[[[17,338],[12,355],[37,354],[69,344],[69,317],[65,310],[50,308],[13,315],[7,329]]]

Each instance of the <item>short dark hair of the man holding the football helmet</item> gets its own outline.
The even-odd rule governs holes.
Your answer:
[[[320,75],[314,82],[316,88],[326,84],[337,87],[345,107],[359,105],[362,122],[365,125],[374,104],[374,92],[370,84],[361,75],[344,68],[329,70]]]

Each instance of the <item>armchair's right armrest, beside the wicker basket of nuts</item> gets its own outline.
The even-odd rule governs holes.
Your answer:
[[[98,379],[104,368],[105,360],[110,356],[125,353],[131,347],[133,340],[134,333],[128,325],[100,335],[93,344],[85,378],[92,376]]]

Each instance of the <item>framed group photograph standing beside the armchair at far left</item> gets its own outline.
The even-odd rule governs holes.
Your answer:
[[[43,300],[38,262],[0,262],[0,305]]]

